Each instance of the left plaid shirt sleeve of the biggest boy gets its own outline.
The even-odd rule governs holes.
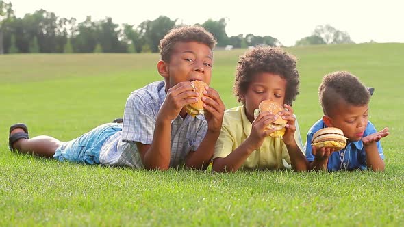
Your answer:
[[[132,93],[124,112],[122,139],[124,142],[151,144],[155,129],[155,113],[146,105],[148,99]]]

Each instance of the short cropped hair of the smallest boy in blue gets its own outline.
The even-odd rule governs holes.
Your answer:
[[[318,87],[318,96],[323,113],[329,115],[341,101],[349,105],[362,106],[369,103],[370,92],[350,72],[337,71],[323,77]]]

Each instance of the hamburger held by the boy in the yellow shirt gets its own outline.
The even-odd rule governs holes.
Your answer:
[[[274,122],[270,123],[268,126],[266,126],[266,130],[269,129],[275,129],[273,133],[270,133],[271,137],[281,137],[285,134],[285,126],[288,121],[283,120],[281,116],[279,116],[279,112],[283,111],[283,107],[279,105],[278,103],[275,103],[274,101],[270,100],[264,100],[258,105],[258,109],[255,109],[254,111],[254,116],[257,118],[258,114],[260,114],[263,111],[270,111],[272,114],[275,116],[278,116],[277,120]]]

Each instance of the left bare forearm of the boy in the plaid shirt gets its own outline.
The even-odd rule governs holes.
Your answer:
[[[167,170],[171,155],[171,121],[157,118],[153,142],[143,157],[144,168]]]

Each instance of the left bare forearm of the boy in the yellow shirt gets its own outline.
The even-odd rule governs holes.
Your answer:
[[[236,150],[233,150],[233,152],[227,155],[227,157],[215,159],[213,170],[220,172],[236,172],[254,150],[255,148],[253,148],[248,142],[248,139],[246,139]]]

